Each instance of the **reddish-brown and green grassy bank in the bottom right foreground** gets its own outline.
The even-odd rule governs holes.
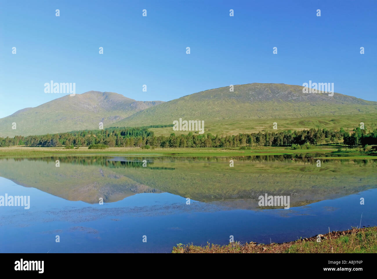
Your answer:
[[[321,239],[317,242],[317,239]],[[285,243],[177,244],[172,253],[377,253],[377,227],[336,231]]]

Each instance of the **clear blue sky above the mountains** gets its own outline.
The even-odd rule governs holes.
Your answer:
[[[44,93],[51,80],[139,101],[311,80],[377,101],[376,1],[0,3],[0,117],[62,97]]]

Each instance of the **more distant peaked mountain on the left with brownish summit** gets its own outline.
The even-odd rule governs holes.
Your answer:
[[[0,136],[37,135],[98,129],[99,123],[111,126],[137,111],[162,101],[135,101],[113,92],[89,91],[65,95],[35,108],[24,108],[0,119]],[[12,123],[16,129],[12,130]]]

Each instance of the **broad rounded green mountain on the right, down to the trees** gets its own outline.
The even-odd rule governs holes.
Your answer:
[[[339,93],[334,93],[334,96],[321,91],[303,93],[303,87],[299,85],[252,83],[234,85],[234,92],[230,92],[230,87],[220,87],[183,96],[139,111],[112,123],[112,126],[172,124],[174,120],[182,118],[204,120],[205,132],[234,134],[260,131],[266,127],[272,130],[274,121],[271,119],[281,120],[277,121],[279,129],[290,122],[287,119],[294,119],[295,125],[289,128],[295,130],[311,128],[310,126],[316,126],[321,121],[324,122],[324,127],[328,124],[339,128],[345,121],[356,127],[366,114],[369,114],[368,119],[376,119],[377,102]],[[353,115],[352,119],[349,119],[350,115]],[[311,119],[316,123],[310,123]],[[284,125],[279,127],[279,123]],[[173,132],[172,127],[154,129],[165,130],[165,134]]]

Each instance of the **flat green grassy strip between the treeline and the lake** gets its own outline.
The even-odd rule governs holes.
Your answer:
[[[343,148],[345,149],[345,148]],[[290,147],[252,147],[248,150],[239,148],[155,148],[110,147],[106,149],[65,149],[62,147],[0,147],[0,158],[48,157],[48,156],[266,156],[289,154],[321,153],[314,158],[325,159],[377,159],[377,156],[365,152],[344,150],[337,151],[336,146],[314,146],[311,149],[292,149]],[[334,156],[329,156],[329,153]]]

